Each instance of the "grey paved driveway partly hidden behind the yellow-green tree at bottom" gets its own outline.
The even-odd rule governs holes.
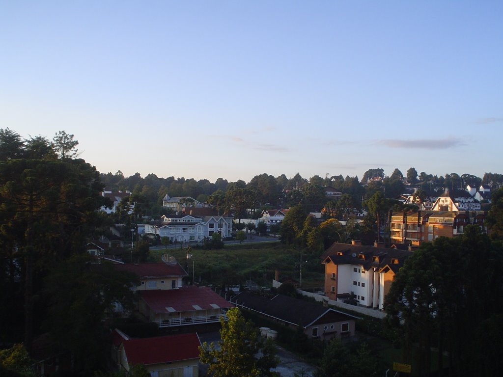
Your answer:
[[[220,340],[219,332],[212,332],[207,334],[199,334],[199,339],[201,343],[203,342],[217,342]],[[316,369],[314,366],[309,365],[302,361],[298,356],[294,353],[287,351],[285,348],[280,347],[275,344],[278,349],[277,356],[280,359],[278,366],[273,370],[279,372],[282,377],[312,377],[314,370]],[[206,375],[206,370],[208,366],[206,364],[199,364],[199,375],[201,377]]]

